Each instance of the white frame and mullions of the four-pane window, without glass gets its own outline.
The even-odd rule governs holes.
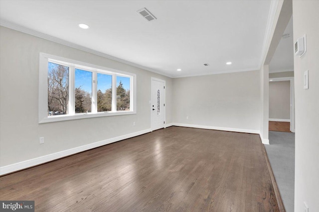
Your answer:
[[[69,102],[68,114],[48,116],[48,63],[69,67]],[[75,113],[75,69],[92,72],[92,105],[89,113]],[[112,75],[112,111],[97,112],[97,73]],[[116,76],[130,77],[130,111],[117,111],[116,108]],[[86,119],[105,116],[130,115],[137,113],[136,74],[119,71],[63,57],[40,53],[39,55],[39,97],[38,122],[59,122],[75,119]]]

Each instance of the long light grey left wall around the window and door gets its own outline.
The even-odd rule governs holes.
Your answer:
[[[151,129],[151,77],[166,80],[171,123],[172,79],[5,27],[0,28],[0,166]],[[137,74],[137,114],[38,124],[39,53]],[[136,126],[133,126],[136,122]],[[39,144],[44,137],[44,144]]]

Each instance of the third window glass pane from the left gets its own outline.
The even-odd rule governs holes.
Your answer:
[[[97,73],[97,77],[98,112],[112,111],[112,75]]]

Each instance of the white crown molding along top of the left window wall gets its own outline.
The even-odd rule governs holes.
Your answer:
[[[32,29],[23,27],[21,25],[14,24],[14,23],[6,21],[6,20],[0,19],[0,26],[6,27],[6,28],[9,28],[9,29],[13,29],[15,31],[23,32],[25,34],[32,35],[32,36],[35,36],[35,37],[38,37],[38,38],[42,38],[42,39],[45,39],[45,40],[48,40],[48,41],[52,41],[52,42],[55,42],[55,43],[58,43],[58,44],[62,44],[64,46],[68,46],[68,47],[71,47],[71,48],[74,48],[74,49],[78,49],[78,50],[81,50],[81,51],[84,51],[84,52],[88,52],[88,53],[91,53],[91,54],[94,54],[94,55],[98,55],[98,56],[101,56],[101,57],[104,57],[104,58],[107,58],[107,59],[110,59],[110,60],[114,60],[114,61],[117,61],[117,62],[120,62],[120,63],[123,63],[123,64],[127,64],[127,65],[130,65],[130,66],[136,67],[136,68],[140,68],[140,69],[143,69],[143,70],[146,70],[146,71],[151,71],[151,72],[154,72],[154,73],[158,73],[160,75],[168,76],[170,78],[172,77],[172,75],[169,75],[169,74],[166,74],[166,73],[163,73],[163,72],[160,72],[160,71],[156,71],[156,70],[150,69],[148,67],[141,66],[139,64],[132,63],[132,62],[129,62],[129,61],[126,61],[126,60],[123,60],[123,59],[120,59],[120,58],[117,58],[117,57],[114,57],[114,56],[111,56],[111,55],[108,55],[108,54],[105,54],[105,53],[102,53],[102,52],[99,52],[99,51],[95,51],[93,49],[90,49],[90,48],[87,48],[87,47],[84,47],[84,46],[81,46],[81,45],[78,45],[78,44],[74,44],[74,43],[71,43],[69,41],[65,41],[65,40],[62,40],[60,38],[56,38],[56,37],[53,37],[51,35],[44,34],[42,32],[38,32],[38,31],[35,31],[35,30],[32,30]]]

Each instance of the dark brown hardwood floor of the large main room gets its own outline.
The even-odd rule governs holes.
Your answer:
[[[259,135],[169,127],[0,177],[36,212],[277,212]]]

